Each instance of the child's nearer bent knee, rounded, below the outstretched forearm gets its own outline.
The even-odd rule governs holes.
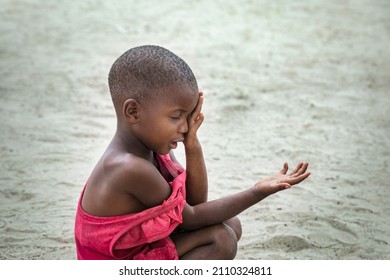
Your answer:
[[[220,256],[219,259],[232,260],[237,254],[237,236],[235,231],[225,224],[221,224],[214,232],[214,245]]]

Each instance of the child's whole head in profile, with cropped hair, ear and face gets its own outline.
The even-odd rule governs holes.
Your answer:
[[[199,98],[184,60],[158,46],[132,48],[114,62],[108,82],[118,128],[160,154],[183,139]]]

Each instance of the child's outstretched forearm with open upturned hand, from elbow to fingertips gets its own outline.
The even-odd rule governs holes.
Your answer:
[[[306,172],[307,166],[307,163],[301,163],[293,172],[287,175],[288,165],[284,164],[279,173],[257,182],[254,187],[248,190],[196,206],[186,204],[183,210],[183,224],[181,227],[186,230],[194,230],[222,223],[267,196],[289,189],[292,185],[305,180],[310,176],[310,173]]]

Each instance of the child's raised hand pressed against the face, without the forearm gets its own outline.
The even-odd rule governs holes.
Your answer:
[[[194,111],[188,117],[188,132],[184,136],[183,141],[186,149],[191,149],[200,145],[196,133],[204,120],[204,115],[201,112],[203,99],[203,93],[199,92],[198,104],[196,104]]]

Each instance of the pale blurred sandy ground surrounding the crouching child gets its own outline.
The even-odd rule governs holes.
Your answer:
[[[0,259],[75,259],[77,200],[116,125],[107,74],[141,44],[205,92],[211,199],[311,164],[240,215],[238,259],[390,259],[389,1],[0,6]]]

